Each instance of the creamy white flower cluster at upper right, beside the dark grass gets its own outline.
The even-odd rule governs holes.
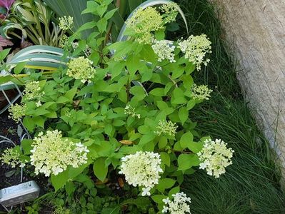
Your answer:
[[[205,34],[201,36],[189,36],[188,39],[179,42],[179,48],[185,54],[185,58],[194,63],[197,70],[201,70],[201,64],[205,66],[209,63],[209,58],[205,58],[207,53],[211,53],[211,41]]]

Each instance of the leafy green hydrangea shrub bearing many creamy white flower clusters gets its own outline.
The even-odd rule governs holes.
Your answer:
[[[99,21],[66,39],[66,46],[79,42],[64,54],[66,67],[49,80],[30,79],[22,107],[10,108],[35,136],[23,142],[24,154],[36,174],[50,176],[69,198],[78,183],[116,198],[109,213],[190,213],[191,195],[180,191],[184,175],[201,168],[219,178],[234,152],[224,141],[200,136],[190,117],[192,108],[211,98],[211,89],[191,76],[209,63],[211,42],[206,35],[165,40],[179,10],[166,1],[136,9],[126,21],[128,39],[106,45],[115,11],[106,12],[108,4],[88,1],[84,13]],[[84,29],[94,33],[81,40]],[[80,209],[98,211],[90,207]]]

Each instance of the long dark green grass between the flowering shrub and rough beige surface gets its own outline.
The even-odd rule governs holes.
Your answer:
[[[285,213],[279,168],[269,144],[256,126],[236,80],[236,63],[226,49],[214,6],[206,0],[177,1],[189,21],[190,34],[206,34],[212,41],[211,63],[195,74],[197,83],[214,89],[210,101],[191,111],[201,134],[221,138],[234,148],[233,165],[215,179],[198,170],[186,178],[182,190],[192,199],[191,213]],[[182,21],[180,34],[184,36]]]

